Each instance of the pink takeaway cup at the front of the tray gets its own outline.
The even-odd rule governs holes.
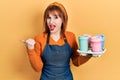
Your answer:
[[[102,39],[99,36],[93,36],[90,38],[91,50],[93,52],[102,51]]]

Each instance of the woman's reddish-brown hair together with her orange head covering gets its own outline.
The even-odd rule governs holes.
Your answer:
[[[44,20],[43,20],[43,26],[45,28],[44,33],[50,33],[49,27],[47,25],[47,18],[50,12],[53,13],[57,12],[59,17],[62,19],[61,34],[64,34],[67,27],[68,15],[64,6],[58,2],[51,3],[44,12]]]

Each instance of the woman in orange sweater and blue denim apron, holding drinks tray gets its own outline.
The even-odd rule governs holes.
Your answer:
[[[42,71],[40,80],[73,80],[70,59],[79,66],[91,58],[77,53],[76,37],[66,31],[67,21],[64,6],[54,2],[44,13],[44,33],[25,41],[32,67]]]

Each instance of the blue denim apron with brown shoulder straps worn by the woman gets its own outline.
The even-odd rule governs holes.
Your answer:
[[[49,35],[42,54],[43,69],[40,80],[73,80],[70,70],[72,49],[64,36],[62,46],[50,45]]]

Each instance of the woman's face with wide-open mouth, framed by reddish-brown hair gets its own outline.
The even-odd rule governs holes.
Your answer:
[[[62,19],[57,12],[49,12],[47,17],[47,25],[49,27],[50,33],[56,34],[61,32]]]

